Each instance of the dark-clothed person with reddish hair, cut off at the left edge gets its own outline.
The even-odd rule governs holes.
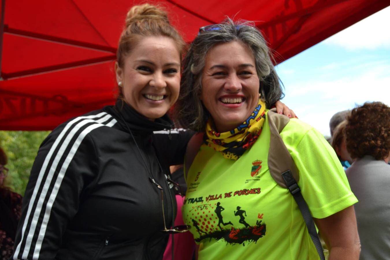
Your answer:
[[[7,162],[7,155],[0,147],[0,260],[8,260],[12,255],[22,205],[22,196],[4,185]]]

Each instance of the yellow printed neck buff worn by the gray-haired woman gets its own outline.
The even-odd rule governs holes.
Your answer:
[[[225,158],[237,160],[259,138],[265,121],[266,105],[259,99],[253,113],[235,129],[218,133],[212,128],[212,119],[206,124],[204,142]]]

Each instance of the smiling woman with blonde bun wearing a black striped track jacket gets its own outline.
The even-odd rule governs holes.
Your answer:
[[[166,113],[179,96],[183,48],[165,11],[130,9],[115,64],[118,100],[43,141],[13,259],[162,259],[168,233],[187,230],[170,228],[176,201],[167,176],[193,133],[163,131],[173,127]]]

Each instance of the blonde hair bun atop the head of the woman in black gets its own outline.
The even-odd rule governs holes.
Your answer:
[[[126,16],[126,27],[144,19],[155,19],[169,23],[168,14],[161,7],[151,4],[135,5]]]

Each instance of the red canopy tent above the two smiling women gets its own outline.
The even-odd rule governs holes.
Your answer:
[[[140,2],[2,0],[0,130],[50,130],[114,103],[117,42],[127,10]],[[187,42],[199,27],[226,15],[256,21],[277,62],[390,5],[389,0],[160,3]]]

